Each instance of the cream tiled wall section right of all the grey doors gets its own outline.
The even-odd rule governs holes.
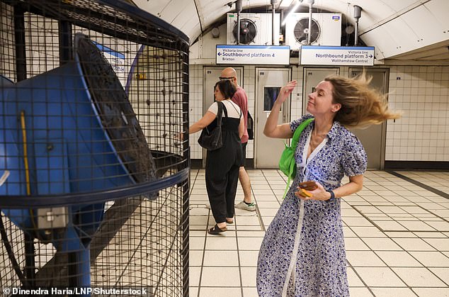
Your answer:
[[[404,115],[387,124],[385,159],[449,161],[449,67],[390,67],[389,102]]]

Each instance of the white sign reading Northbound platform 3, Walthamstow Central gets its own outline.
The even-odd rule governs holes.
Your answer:
[[[301,65],[373,66],[374,47],[302,45]]]

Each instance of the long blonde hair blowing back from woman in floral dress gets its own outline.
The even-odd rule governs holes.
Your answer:
[[[335,121],[347,127],[366,128],[401,117],[401,113],[388,109],[387,95],[370,86],[371,79],[365,72],[354,78],[330,76],[324,79],[333,86],[334,103],[341,104]]]

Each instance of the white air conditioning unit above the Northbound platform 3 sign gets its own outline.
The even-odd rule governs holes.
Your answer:
[[[285,45],[299,50],[307,44],[309,13],[293,13],[285,24]],[[341,13],[312,13],[311,45],[341,45]]]

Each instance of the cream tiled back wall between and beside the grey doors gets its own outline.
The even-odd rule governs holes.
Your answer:
[[[385,68],[385,67],[384,67]],[[256,67],[244,67],[244,89],[249,111],[254,114]],[[341,67],[346,76],[348,67]],[[292,66],[297,89],[292,94],[291,118],[302,115],[302,67]],[[400,78],[400,79],[399,79]],[[387,161],[449,161],[449,67],[390,66],[390,107],[404,112],[401,119],[388,121]],[[203,116],[203,65],[190,66],[191,123]],[[191,135],[192,159],[201,159],[199,133]],[[250,140],[247,157],[254,157]]]

